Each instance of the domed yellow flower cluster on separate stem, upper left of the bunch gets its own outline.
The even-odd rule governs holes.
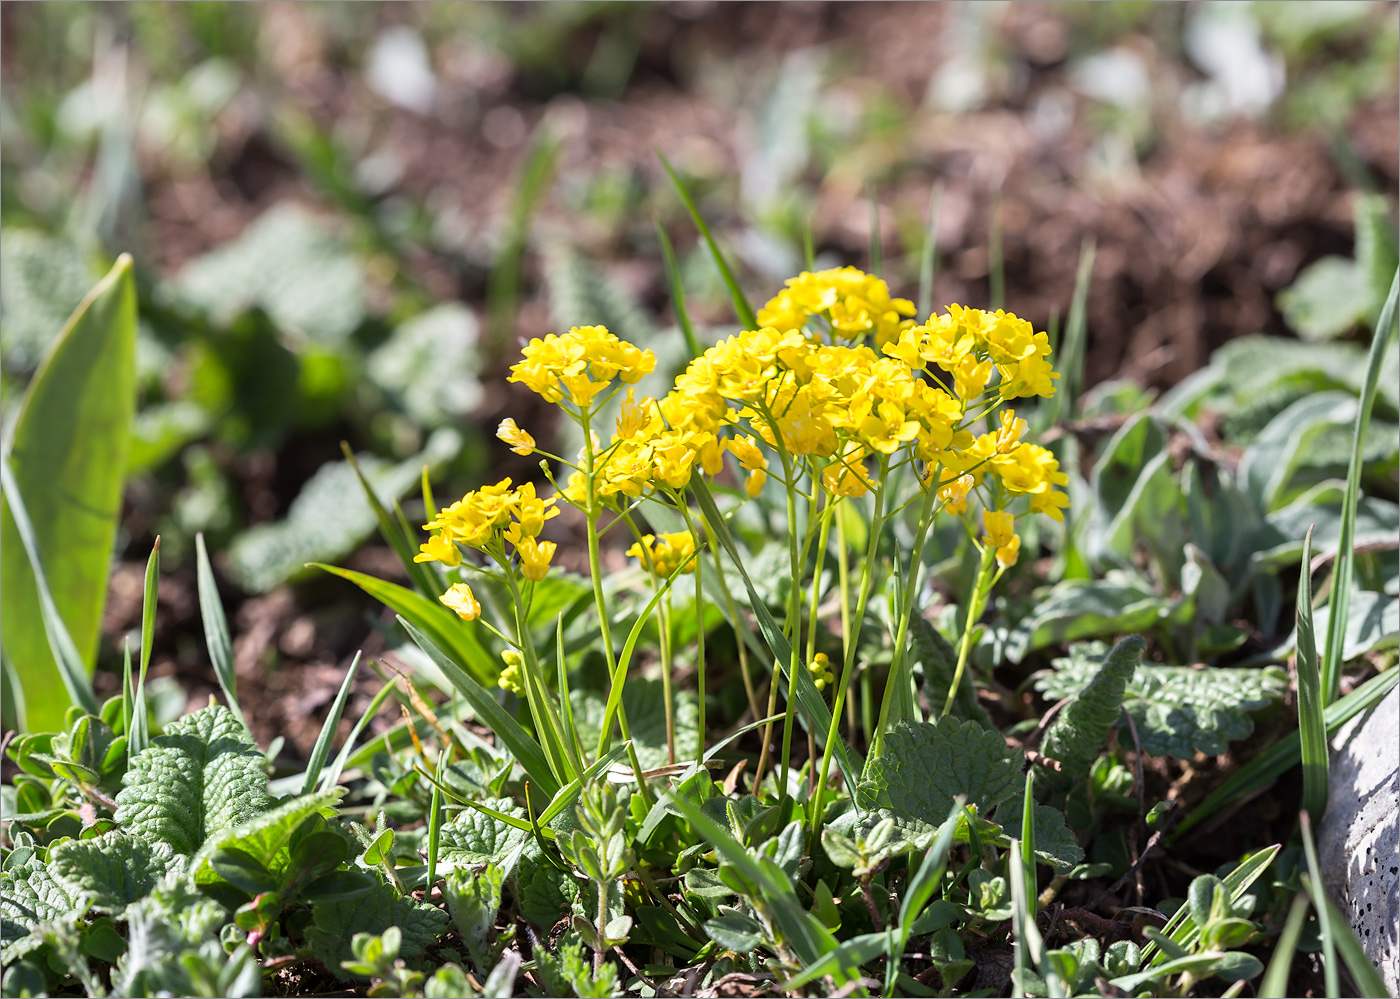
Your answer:
[[[521,351],[507,381],[522,382],[552,403],[567,397],[585,407],[613,378],[627,385],[650,375],[657,355],[619,340],[605,326],[574,326],[563,336],[535,337]]]

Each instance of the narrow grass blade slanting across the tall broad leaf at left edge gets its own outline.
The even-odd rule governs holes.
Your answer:
[[[38,704],[35,704],[36,697],[43,697],[43,694],[35,694],[35,691],[42,691],[45,687],[52,687],[49,680],[57,677],[63,683],[63,688],[67,691],[67,700],[52,705],[55,708],[64,708],[67,704],[80,705],[87,714],[95,715],[98,712],[97,694],[92,693],[92,681],[88,679],[87,666],[83,665],[83,658],[78,655],[77,646],[73,644],[73,637],[69,634],[67,625],[63,623],[63,616],[59,614],[59,609],[53,602],[53,595],[49,592],[49,581],[43,571],[43,561],[39,555],[38,539],[34,536],[34,526],[29,522],[29,511],[24,505],[24,497],[15,487],[14,474],[10,472],[10,459],[0,455],[0,476],[3,476],[4,498],[10,502],[6,505],[4,512],[10,516],[4,523],[14,525],[15,533],[20,536],[20,544],[22,546],[22,553],[28,558],[29,578],[34,581],[35,592],[39,600],[39,621],[43,625],[45,641],[49,644],[50,659],[49,663],[53,666],[39,666],[31,667],[29,670],[22,670],[14,659],[10,658],[10,652],[14,648],[6,646],[6,659],[10,660],[11,674],[20,680],[21,690],[24,693],[24,701],[27,705],[25,715],[29,711],[43,711]],[[4,551],[14,553],[14,544],[7,544]],[[10,565],[15,560],[15,555],[4,558],[4,564]],[[7,572],[8,575],[8,572]],[[6,583],[4,589],[8,590],[10,585]],[[21,621],[11,616],[11,611],[4,611],[3,614],[6,627],[7,641],[15,635],[20,635],[22,630]],[[21,635],[20,648],[22,649],[24,637]],[[59,691],[52,691],[50,695],[57,695]],[[32,716],[25,718],[25,723],[29,725],[31,730],[36,730],[35,726],[41,726],[38,730],[45,728],[60,728],[63,722],[63,715],[60,714],[57,719],[48,723],[41,723]]]

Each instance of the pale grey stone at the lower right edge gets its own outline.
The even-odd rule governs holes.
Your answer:
[[[1327,894],[1400,993],[1400,688],[1333,739],[1317,853]]]

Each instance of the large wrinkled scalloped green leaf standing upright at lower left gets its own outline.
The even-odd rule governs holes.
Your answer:
[[[172,722],[132,758],[116,796],[116,820],[150,842],[192,855],[220,830],[267,807],[263,754],[228,708]]]

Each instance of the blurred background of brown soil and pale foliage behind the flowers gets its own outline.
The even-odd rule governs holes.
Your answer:
[[[302,565],[396,571],[342,441],[385,497],[529,477],[491,435],[552,430],[504,382],[519,337],[605,322],[683,360],[657,221],[701,336],[734,329],[658,150],[757,301],[808,248],[913,297],[937,200],[932,302],[1043,329],[1092,238],[1086,388],[1364,340],[1396,262],[1393,3],[4,3],[0,31],[0,416],[132,252],[105,656],[161,534],[155,674],[213,688],[204,532],[239,672],[298,691],[251,716],[294,742],[377,613]],[[1079,416],[1112,431],[1123,392]]]

